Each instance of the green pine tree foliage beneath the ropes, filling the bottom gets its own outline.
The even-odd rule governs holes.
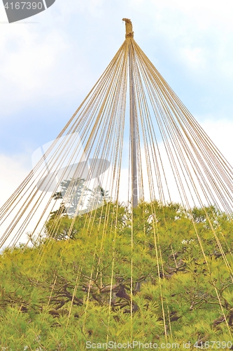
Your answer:
[[[113,203],[51,214],[37,244],[1,253],[0,350],[232,340],[232,219],[157,201],[133,216]]]

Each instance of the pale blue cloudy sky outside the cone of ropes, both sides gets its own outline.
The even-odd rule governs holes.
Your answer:
[[[232,0],[56,0],[8,24],[0,3],[0,206],[125,40],[134,39],[233,164]]]

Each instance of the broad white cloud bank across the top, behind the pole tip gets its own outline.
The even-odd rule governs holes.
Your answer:
[[[124,39],[124,30],[119,34],[113,29],[122,13],[132,14],[135,38],[140,45],[145,41],[148,55],[161,39],[162,49],[167,48],[190,79],[206,84],[215,72],[216,77],[229,82],[233,77],[232,6],[227,0],[221,4],[207,0],[120,0],[111,5],[106,0],[71,0],[69,6],[57,0],[34,17],[41,23],[1,25],[1,112],[13,112],[45,96],[69,98],[82,92],[80,98],[84,98],[101,74],[101,61],[108,63],[106,52],[112,48],[108,35]],[[4,11],[1,18],[6,20]]]

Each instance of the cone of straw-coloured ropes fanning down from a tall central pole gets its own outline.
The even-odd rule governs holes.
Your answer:
[[[218,208],[218,211],[232,218],[233,169],[136,44],[131,20],[127,18],[123,20],[125,21],[125,41],[113,60],[34,169],[0,209],[0,248],[16,246],[28,230],[31,231],[31,237],[35,234],[41,237],[46,232],[49,239],[38,250],[35,258],[39,269],[45,259],[45,252],[51,249],[54,239],[57,239],[64,208],[66,213],[69,213],[77,197],[77,180],[85,178],[85,186],[78,193],[76,207],[69,218],[71,225],[66,232],[66,241],[71,238],[76,218],[84,213],[84,204],[87,204],[90,188],[99,189],[102,193],[108,190],[110,201],[103,202],[104,215],[104,206],[99,215],[96,202],[89,204],[89,210],[85,212],[87,215],[84,228],[87,229],[88,239],[91,241],[92,236],[95,238],[92,270],[87,277],[83,272],[83,263],[78,267],[66,327],[69,325],[76,293],[78,289],[82,289],[80,287],[85,277],[89,279],[89,285],[85,290],[87,294],[85,318],[93,293],[93,284],[97,284],[99,293],[103,291],[109,293],[106,327],[109,331],[113,294],[118,293],[120,289],[120,283],[115,282],[117,256],[115,241],[119,234],[120,201],[128,201],[129,211],[131,211],[131,221],[127,224],[131,228],[130,296],[125,291],[122,295],[125,296],[125,300],[130,300],[129,312],[133,339],[135,332],[133,328],[135,312],[133,257],[137,229],[134,215],[136,216],[141,201],[149,201],[152,214],[147,220],[152,220],[150,234],[153,235],[164,336],[167,340],[166,320],[169,307],[166,306],[162,288],[162,277],[165,274],[155,199],[160,204],[166,205],[175,201],[174,197],[176,197],[176,201],[185,208],[195,230],[206,270],[211,274],[202,235],[192,216],[194,206],[203,208],[206,223],[216,241],[216,248],[220,251],[232,280],[233,272],[229,259],[229,256],[232,258],[231,248],[227,245],[223,234],[216,232],[215,223],[207,213],[206,206],[213,205]],[[106,164],[110,166],[107,168]],[[69,186],[61,200],[59,197],[61,184],[68,180]],[[60,206],[61,201],[63,207]],[[45,227],[45,223],[48,223],[51,218],[51,213],[53,213],[52,224],[50,227]],[[104,224],[101,223],[103,216]],[[99,223],[98,230],[94,232],[96,221]],[[165,216],[164,226],[166,227]],[[113,235],[110,252],[113,260],[111,274],[109,274],[110,282],[105,286],[101,276],[101,265],[104,263],[104,244],[110,234]],[[148,234],[145,228],[143,235],[146,241]],[[174,256],[174,251],[172,253]],[[84,256],[83,262],[85,258]],[[56,284],[57,276],[54,274],[49,303]],[[231,335],[216,285],[214,289],[220,310],[225,317],[227,331]],[[171,333],[171,323],[169,327]],[[85,331],[85,323],[83,331]]]

